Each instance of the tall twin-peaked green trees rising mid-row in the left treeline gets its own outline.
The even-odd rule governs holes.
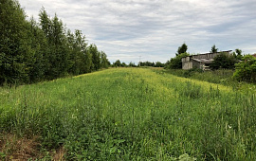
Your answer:
[[[50,19],[45,9],[40,10],[39,18],[50,50],[48,55],[49,68],[46,69],[46,75],[48,79],[64,77],[73,63],[70,61],[63,22],[59,20],[56,14]]]

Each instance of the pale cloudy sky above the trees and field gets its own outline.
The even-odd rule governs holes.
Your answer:
[[[27,18],[44,7],[82,30],[111,63],[161,62],[185,43],[191,54],[242,49],[256,53],[255,0],[19,0]]]

